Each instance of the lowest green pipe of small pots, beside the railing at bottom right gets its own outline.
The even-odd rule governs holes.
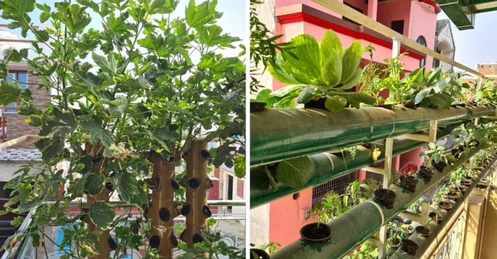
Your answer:
[[[494,163],[496,162],[496,159],[492,159],[490,162],[490,166],[488,169],[483,170],[479,175],[478,175],[478,180],[474,180],[473,183],[466,188],[466,191],[461,197],[459,197],[459,200],[452,201],[450,199],[444,199],[444,201],[450,203],[452,205],[452,208],[450,210],[441,210],[440,208],[435,209],[435,212],[437,214],[441,214],[441,216],[444,218],[444,222],[441,224],[437,224],[435,222],[431,222],[427,225],[427,227],[431,230],[431,235],[428,237],[422,237],[421,235],[417,234],[417,232],[414,232],[410,237],[409,240],[413,240],[414,243],[416,243],[419,248],[416,251],[416,254],[414,256],[411,256],[407,254],[405,251],[402,251],[402,249],[398,249],[393,256],[391,256],[391,259],[416,259],[416,258],[421,258],[426,251],[428,251],[428,247],[431,246],[431,243],[433,241],[437,240],[437,234],[440,233],[442,230],[444,230],[444,227],[446,227],[449,219],[454,217],[454,214],[459,210],[459,207],[464,204],[464,201],[472,190],[478,185],[478,182],[481,180],[481,178],[488,173],[490,169],[493,169]],[[420,225],[419,223],[414,224],[413,227],[417,227],[417,225]]]

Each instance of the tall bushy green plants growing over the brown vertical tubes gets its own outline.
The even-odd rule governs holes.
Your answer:
[[[232,138],[245,135],[245,65],[240,58],[216,51],[234,48],[240,39],[223,34],[216,24],[221,17],[217,1],[197,5],[191,0],[184,17],[175,18],[171,13],[178,3],[81,0],[50,6],[34,0],[0,2],[1,18],[8,21],[8,27],[21,30],[23,37],[29,32],[36,39],[33,55],[27,56],[27,49],[4,52],[0,77],[8,76],[10,62],[24,60],[42,80],[35,87],[53,93],[51,103],[37,106],[29,88],[21,88],[19,82],[2,80],[0,86],[0,106],[19,100],[20,114],[28,116],[29,125],[40,127],[40,140],[35,144],[42,153],[43,162],[37,165],[40,173],[30,174],[32,166],[17,171],[8,184],[13,197],[5,206],[17,214],[38,206],[31,227],[23,232],[32,237],[34,245],[45,240],[41,232],[45,227],[75,221],[65,213],[71,201],[79,201],[86,193],[102,193],[106,183],[119,194],[119,206],[143,212],[151,199],[146,184],[151,177],[147,160],[151,150],[169,158],[175,148],[181,155],[204,135],[206,143],[214,139],[221,143],[211,149],[210,164],[234,166],[240,177],[245,173],[245,143]],[[49,27],[32,24],[29,16],[35,8],[41,12],[40,22]],[[101,29],[90,28],[92,20],[101,23]],[[95,171],[97,161],[103,162]],[[69,171],[56,171],[60,162],[66,162]],[[60,193],[64,184],[69,188]],[[14,206],[18,203],[19,207]],[[98,232],[128,220],[114,217],[116,206],[104,200],[87,209],[82,216],[89,217]],[[98,232],[81,226],[64,240],[75,245],[68,258],[98,251]],[[143,237],[129,234],[119,231],[117,238]],[[116,256],[125,251],[121,248]],[[154,253],[147,248],[147,254]]]

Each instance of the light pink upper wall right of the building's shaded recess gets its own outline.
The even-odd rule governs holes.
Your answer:
[[[432,6],[411,1],[411,23],[409,24],[409,38],[417,40],[417,37],[424,36],[426,47],[435,48],[435,32],[437,30],[437,14],[431,9]],[[426,71],[433,67],[433,58],[426,57]]]

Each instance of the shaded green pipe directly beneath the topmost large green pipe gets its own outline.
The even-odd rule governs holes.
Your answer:
[[[444,136],[447,136],[459,125],[461,124],[457,123],[456,125],[450,125],[446,129],[438,130],[437,137],[443,138]],[[393,145],[393,155],[398,156],[402,153],[417,149],[422,145],[426,145],[426,143],[405,138],[396,138]],[[376,143],[376,147],[381,151],[381,156],[378,158],[378,161],[385,160],[385,143]],[[361,146],[357,147],[354,160],[348,156],[348,153],[344,152],[346,155],[345,162],[344,158],[325,153],[308,156],[311,162],[313,162],[315,175],[300,188],[291,188],[284,184],[278,184],[278,190],[274,191],[269,186],[269,178],[267,178],[264,167],[252,168],[250,170],[250,208],[256,208],[263,204],[276,201],[288,195],[292,195],[293,193],[298,193],[301,190],[324,184],[337,177],[341,177],[342,175],[375,164],[372,159],[373,148],[374,145],[371,149],[366,149]]]

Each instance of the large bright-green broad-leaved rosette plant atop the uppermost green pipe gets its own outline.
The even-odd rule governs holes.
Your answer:
[[[375,100],[363,93],[346,92],[354,88],[361,77],[361,57],[364,50],[361,42],[352,42],[343,49],[335,32],[328,30],[321,45],[312,36],[303,34],[290,41],[290,48],[278,53],[276,62],[269,65],[275,79],[288,84],[271,93],[278,97],[276,103],[286,103],[298,97],[298,103],[325,98],[326,109],[339,112],[350,104],[354,108],[360,103],[374,104]]]

